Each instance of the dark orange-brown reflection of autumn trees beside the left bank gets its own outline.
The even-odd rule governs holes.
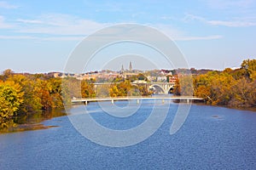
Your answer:
[[[0,133],[15,133],[27,130],[46,129],[55,126],[45,126],[41,122],[53,117],[66,115],[63,110],[35,111],[15,117],[14,120],[0,124]]]

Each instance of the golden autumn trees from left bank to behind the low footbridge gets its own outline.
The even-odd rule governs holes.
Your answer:
[[[11,70],[0,75],[0,128],[12,127],[19,116],[32,116],[38,111],[63,108],[73,98],[149,95],[143,86],[132,87],[131,80],[144,80],[138,75],[116,77],[111,85],[95,88],[94,79],[65,79],[44,74],[17,74]]]

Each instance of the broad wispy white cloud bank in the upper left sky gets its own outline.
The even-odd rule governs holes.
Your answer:
[[[0,35],[6,40],[37,40],[37,41],[81,41],[84,36],[110,26],[109,23],[99,23],[84,20],[67,14],[44,14],[33,19],[17,19],[15,26],[5,22],[0,15],[0,28],[13,31],[13,35]]]

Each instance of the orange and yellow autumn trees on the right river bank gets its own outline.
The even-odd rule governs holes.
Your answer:
[[[181,92],[179,81],[186,82],[180,77],[174,94]],[[228,105],[232,107],[256,106],[256,59],[242,61],[241,68],[224,71],[209,71],[206,74],[195,75],[193,79],[193,94],[205,99],[209,105]],[[189,91],[183,87],[184,91]]]

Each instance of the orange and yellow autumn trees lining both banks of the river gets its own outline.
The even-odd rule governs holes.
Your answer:
[[[172,94],[194,92],[191,95],[205,99],[207,105],[248,109],[256,107],[256,59],[243,60],[241,67],[236,70],[226,68],[224,71],[202,74],[195,70],[189,71],[192,77],[185,73],[178,76]],[[131,82],[135,80],[147,81],[147,77],[141,73],[126,79],[116,77],[110,86],[95,89],[95,79],[81,81],[73,77],[61,79],[45,74],[3,71],[0,75],[0,133],[16,127],[33,129],[25,125],[29,117],[37,116],[38,112],[41,116],[47,115],[49,111],[63,108],[63,103],[71,105],[73,97],[148,96],[153,93],[144,86],[132,87]],[[193,82],[193,86],[187,84],[189,81]]]

